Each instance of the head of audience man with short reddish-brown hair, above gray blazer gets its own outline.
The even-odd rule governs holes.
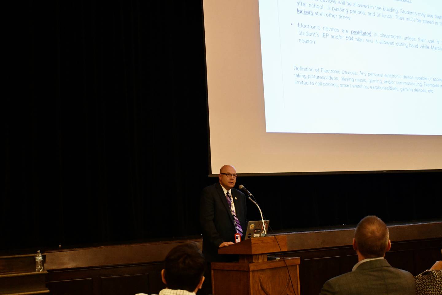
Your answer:
[[[381,218],[373,215],[362,218],[354,231],[353,248],[363,259],[385,256],[391,242],[388,228]]]

